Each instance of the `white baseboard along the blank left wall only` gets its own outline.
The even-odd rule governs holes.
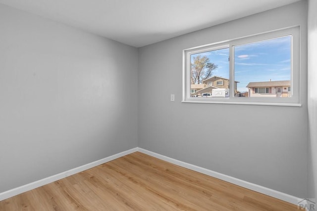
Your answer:
[[[120,152],[120,153],[117,153],[115,155],[103,158],[101,160],[98,160],[98,161],[83,165],[81,167],[77,167],[77,168],[74,168],[74,169],[66,170],[64,172],[55,174],[53,176],[49,176],[47,178],[40,179],[38,181],[31,182],[29,184],[26,184],[26,185],[23,185],[23,186],[20,186],[20,187],[17,187],[17,188],[2,192],[2,193],[0,193],[0,201],[2,201],[4,199],[7,199],[7,198],[10,198],[12,196],[16,196],[18,194],[24,193],[26,191],[41,187],[43,185],[46,185],[46,184],[49,184],[51,182],[57,181],[59,179],[65,178],[67,176],[73,175],[75,173],[79,173],[81,171],[84,171],[84,170],[87,170],[87,169],[91,169],[93,167],[99,166],[99,165],[104,164],[106,162],[112,161],[114,159],[123,157],[125,155],[131,154],[131,153],[134,153],[134,152],[137,152],[137,151],[138,151],[138,148],[136,147],[136,148],[133,148],[133,149],[130,149],[130,150],[127,150],[127,151],[124,151],[124,152]]]

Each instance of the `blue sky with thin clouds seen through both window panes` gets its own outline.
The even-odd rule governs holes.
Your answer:
[[[290,80],[291,36],[236,45],[234,51],[234,80],[240,82],[239,91],[247,91],[249,82]],[[210,62],[218,65],[213,76],[229,78],[229,48],[196,55],[206,55]]]

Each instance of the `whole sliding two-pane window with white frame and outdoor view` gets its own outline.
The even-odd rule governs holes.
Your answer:
[[[186,49],[182,102],[300,106],[299,51],[299,27]],[[193,84],[229,96],[193,98]],[[288,93],[278,93],[282,87]]]

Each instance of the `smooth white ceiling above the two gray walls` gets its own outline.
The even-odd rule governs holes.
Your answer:
[[[299,0],[0,0],[135,47]]]

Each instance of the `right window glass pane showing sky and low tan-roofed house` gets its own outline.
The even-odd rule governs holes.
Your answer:
[[[234,80],[237,97],[290,96],[291,36],[234,46]]]

